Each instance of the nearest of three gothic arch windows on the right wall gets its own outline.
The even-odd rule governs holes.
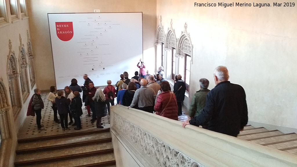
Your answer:
[[[190,84],[190,66],[193,63],[193,45],[190,34],[187,32],[187,23],[184,25],[184,31],[178,39],[176,55],[179,57],[179,73],[186,82],[186,90],[189,91]]]

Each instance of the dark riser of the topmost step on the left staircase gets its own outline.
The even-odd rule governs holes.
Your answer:
[[[103,128],[103,129],[79,131],[79,132],[73,132],[73,133],[64,133],[64,134],[52,135],[52,136],[42,136],[42,137],[35,137],[35,138],[23,138],[23,139],[18,139],[18,143],[44,141],[44,140],[50,140],[50,139],[53,139],[53,138],[55,138],[55,139],[57,139],[57,138],[68,138],[68,137],[83,136],[83,135],[89,135],[89,134],[94,134],[94,133],[103,133],[103,132],[109,132],[109,131],[110,131],[110,128]]]

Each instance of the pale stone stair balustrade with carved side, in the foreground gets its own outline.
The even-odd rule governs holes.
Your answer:
[[[112,106],[110,129],[138,166],[297,166],[297,156],[122,105]],[[115,144],[114,144],[115,146]],[[118,145],[116,145],[117,147]],[[116,148],[114,148],[116,149]],[[117,164],[117,166],[123,166]]]

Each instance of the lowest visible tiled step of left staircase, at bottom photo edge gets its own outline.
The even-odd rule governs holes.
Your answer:
[[[113,153],[108,153],[42,164],[23,165],[22,167],[94,167],[94,164],[96,167],[116,167],[116,160]]]

